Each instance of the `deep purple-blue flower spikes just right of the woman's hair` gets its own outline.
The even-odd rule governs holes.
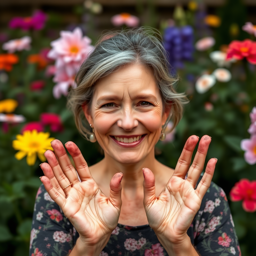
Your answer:
[[[168,53],[169,63],[173,68],[183,68],[185,60],[192,60],[194,51],[193,28],[191,26],[167,27],[163,41]]]

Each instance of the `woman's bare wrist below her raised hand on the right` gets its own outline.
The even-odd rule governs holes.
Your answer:
[[[157,236],[158,237],[158,236]],[[168,255],[173,256],[199,256],[195,247],[191,244],[191,240],[187,234],[184,237],[177,239],[176,242],[170,242],[170,240],[166,237],[158,237],[159,242],[167,251]]]

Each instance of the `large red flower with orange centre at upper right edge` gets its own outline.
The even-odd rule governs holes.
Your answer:
[[[246,58],[251,64],[256,64],[256,42],[250,39],[232,41],[228,46],[227,60],[231,58],[238,60]]]

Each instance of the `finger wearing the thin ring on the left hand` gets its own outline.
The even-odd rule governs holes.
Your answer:
[[[57,179],[60,187],[63,189],[67,185],[69,185],[71,182],[66,177],[66,175],[63,173],[62,169],[60,168],[59,162],[51,150],[47,150],[45,152],[45,157],[54,173],[55,178]],[[71,186],[65,188],[65,193],[70,189]]]

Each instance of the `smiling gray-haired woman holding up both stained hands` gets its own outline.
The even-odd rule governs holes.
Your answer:
[[[40,165],[30,255],[239,255],[225,193],[211,183],[216,158],[200,176],[211,137],[190,136],[175,170],[155,159],[155,144],[171,118],[177,125],[186,98],[173,88],[161,41],[148,32],[105,35],[81,66],[69,105],[104,159],[89,169],[69,141],[74,168],[52,141]]]

